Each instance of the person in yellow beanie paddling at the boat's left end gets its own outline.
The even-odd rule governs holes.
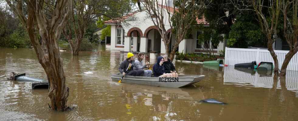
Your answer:
[[[135,67],[133,54],[128,52],[127,58],[120,63],[119,71],[122,75],[144,76],[144,70],[133,70],[133,67]]]

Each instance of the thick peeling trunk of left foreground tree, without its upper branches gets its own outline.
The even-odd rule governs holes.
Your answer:
[[[30,25],[29,25],[30,26]],[[47,74],[49,82],[49,97],[51,100],[50,108],[52,110],[63,111],[68,108],[66,105],[67,97],[69,94],[69,88],[65,86],[65,74],[63,71],[63,60],[60,57],[59,47],[55,39],[54,34],[50,34],[47,41],[48,54],[41,54],[40,44],[33,31],[34,29],[28,28],[29,38],[32,42],[34,50],[37,54],[38,60]],[[41,34],[42,38],[46,33]]]

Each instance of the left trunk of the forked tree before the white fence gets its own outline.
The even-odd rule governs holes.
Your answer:
[[[271,33],[268,34],[267,38],[268,38],[268,44],[267,44],[268,51],[270,52],[270,54],[273,58],[273,61],[274,61],[274,74],[278,75],[279,74],[278,59],[277,59],[277,55],[275,54],[275,52],[273,50],[273,47],[272,47],[273,41],[272,41],[272,38],[271,38]]]

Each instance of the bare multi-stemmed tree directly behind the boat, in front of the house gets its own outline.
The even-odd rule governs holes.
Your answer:
[[[146,11],[154,25],[158,28],[158,32],[165,44],[166,54],[172,61],[180,42],[189,34],[189,30],[196,23],[196,19],[202,17],[202,9],[205,8],[203,1],[173,0],[173,7],[169,7],[169,3],[164,2],[164,0],[144,0],[141,2],[143,3],[144,11]],[[170,29],[175,31],[176,43],[172,50],[169,50],[169,46],[173,32],[170,31],[170,36],[168,37],[165,26],[170,26]]]

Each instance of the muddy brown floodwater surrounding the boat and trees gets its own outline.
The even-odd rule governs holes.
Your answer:
[[[103,49],[102,49],[103,48]],[[298,119],[298,72],[286,79],[234,67],[203,67],[176,62],[179,74],[206,75],[184,88],[153,87],[111,81],[125,54],[100,46],[102,53],[82,52],[72,58],[61,52],[68,112],[49,110],[47,89],[32,90],[30,82],[0,78],[0,120],[101,121],[294,121]],[[0,76],[26,73],[46,79],[33,49],[0,48]],[[88,72],[85,74],[84,72]],[[227,105],[202,103],[213,98]]]

